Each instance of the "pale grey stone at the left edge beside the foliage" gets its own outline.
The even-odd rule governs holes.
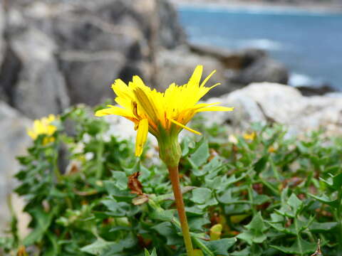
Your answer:
[[[9,198],[16,183],[13,176],[19,171],[16,156],[26,154],[26,148],[31,143],[26,134],[26,128],[30,126],[31,120],[0,101],[0,129],[3,131],[0,133],[0,234],[8,227],[10,214],[6,198]],[[22,199],[14,196],[12,205],[20,215],[19,230],[24,235],[28,224],[28,217],[21,214],[24,203]]]

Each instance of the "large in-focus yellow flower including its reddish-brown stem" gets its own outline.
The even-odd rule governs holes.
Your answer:
[[[219,85],[205,87],[204,85],[215,71],[210,73],[201,82],[202,71],[202,65],[198,65],[187,84],[178,86],[173,83],[165,92],[151,90],[136,75],[128,85],[120,79],[115,80],[112,86],[117,95],[115,102],[121,107],[109,105],[109,108],[98,110],[95,113],[98,117],[106,114],[118,114],[134,122],[135,130],[138,130],[135,142],[136,156],[141,155],[148,132],[157,138],[160,159],[164,161],[169,170],[188,256],[194,256],[195,251],[192,248],[189,225],[187,224],[187,216],[185,214],[185,205],[180,189],[178,164],[182,151],[178,142],[178,134],[182,129],[200,134],[186,126],[192,117],[199,112],[233,110],[232,107],[215,106],[219,103],[198,103],[209,90]]]

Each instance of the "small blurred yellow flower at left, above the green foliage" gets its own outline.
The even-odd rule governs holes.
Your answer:
[[[51,124],[51,122],[55,120],[56,117],[53,114],[49,114],[48,117],[34,120],[33,127],[27,130],[28,136],[34,140],[37,139],[39,135],[46,134],[47,137],[44,139],[43,144],[53,142],[55,138],[51,137],[51,135],[56,132],[57,127]]]

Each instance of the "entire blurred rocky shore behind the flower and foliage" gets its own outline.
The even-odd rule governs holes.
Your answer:
[[[264,50],[223,50],[189,43],[175,7],[167,0],[0,1],[0,63],[0,233],[9,220],[3,209],[14,186],[11,177],[19,168],[14,157],[25,154],[30,143],[26,135],[30,119],[58,114],[78,103],[97,105],[113,99],[110,85],[116,78],[128,82],[140,75],[158,90],[171,82],[182,85],[198,64],[204,65],[204,75],[217,70],[211,82],[222,85],[211,97],[252,82],[286,85],[289,80],[284,64]],[[308,95],[333,91],[329,86],[306,90]],[[285,100],[269,103],[279,95]],[[334,97],[337,100],[328,96],[306,100],[291,87],[254,83],[222,96],[219,100],[234,105],[237,112],[230,119],[219,118],[222,123],[246,127],[251,121],[270,118],[291,125],[305,116],[301,125],[306,128],[327,122],[336,128],[342,107],[341,96]],[[281,107],[298,102],[300,111],[284,114],[286,107]]]

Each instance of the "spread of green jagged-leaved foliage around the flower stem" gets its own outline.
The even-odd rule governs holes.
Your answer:
[[[18,157],[16,193],[26,200],[31,233],[18,234],[13,213],[1,250],[184,256],[171,183],[157,151],[151,147],[135,158],[134,144],[110,136],[109,124],[92,113],[67,110],[53,142],[44,144],[41,135]],[[246,139],[229,139],[222,126],[202,132],[198,142],[182,139],[180,161],[197,255],[311,255],[318,239],[322,255],[342,255],[342,138],[322,132],[289,137],[276,124],[253,124],[247,132],[255,137]],[[222,231],[211,236],[214,225]]]

